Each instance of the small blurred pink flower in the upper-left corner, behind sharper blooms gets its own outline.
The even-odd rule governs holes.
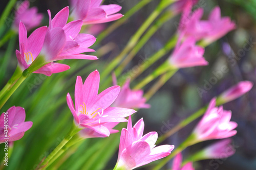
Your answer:
[[[37,13],[36,7],[29,8],[29,1],[24,1],[15,11],[15,18],[12,27],[14,30],[18,31],[19,22],[22,21],[26,26],[26,29],[29,31],[32,28],[38,27],[43,17],[44,16],[42,14]]]

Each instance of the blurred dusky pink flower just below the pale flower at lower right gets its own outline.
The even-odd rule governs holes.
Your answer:
[[[209,145],[203,149],[200,153],[204,159],[222,159],[232,156],[236,150],[231,144],[231,139],[223,139]]]

